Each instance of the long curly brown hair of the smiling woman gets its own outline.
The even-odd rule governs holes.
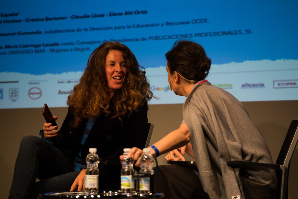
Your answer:
[[[121,89],[112,98],[114,108],[109,110],[111,94],[105,73],[105,58],[110,50],[119,50],[123,54],[127,74]],[[143,70],[140,70],[143,69]],[[105,42],[89,56],[86,70],[68,96],[67,105],[72,110],[73,127],[78,127],[86,118],[92,120],[102,112],[112,118],[131,115],[138,107],[150,100],[153,93],[145,76],[145,68],[140,66],[131,50],[118,42]]]

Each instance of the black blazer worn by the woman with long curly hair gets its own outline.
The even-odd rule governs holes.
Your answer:
[[[111,103],[112,109],[114,104]],[[86,121],[73,128],[70,126],[73,114],[69,109],[65,120],[58,132],[57,140],[54,145],[65,152],[73,160],[77,153],[82,149],[81,164],[86,164],[85,158],[89,153],[89,148],[97,148],[97,154],[100,161],[119,161],[119,156],[123,154],[123,148],[142,147],[147,129],[147,111],[148,104],[139,107],[139,111],[133,112],[129,117],[122,117],[123,123],[119,118],[111,118],[101,114],[91,128],[85,143],[81,144],[81,139],[86,126]],[[120,162],[120,161],[119,161]]]

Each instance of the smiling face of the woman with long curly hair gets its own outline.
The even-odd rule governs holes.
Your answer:
[[[123,54],[119,50],[110,50],[105,57],[105,73],[111,96],[119,90],[125,80],[127,68]]]

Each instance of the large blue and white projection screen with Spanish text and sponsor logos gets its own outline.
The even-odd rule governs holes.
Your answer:
[[[1,1],[0,108],[65,107],[89,55],[127,45],[146,69],[150,104],[170,91],[164,54],[179,39],[212,59],[207,80],[240,101],[298,99],[297,0]]]

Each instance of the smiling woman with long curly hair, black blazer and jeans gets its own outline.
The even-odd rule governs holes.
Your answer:
[[[42,139],[22,139],[9,198],[83,190],[89,148],[97,148],[101,162],[119,162],[123,148],[143,143],[147,101],[153,95],[145,70],[139,68],[125,45],[106,42],[97,47],[68,97],[69,110],[61,128],[44,123]],[[99,169],[99,189],[120,188],[120,167],[100,164]],[[35,182],[36,178],[40,181]]]

